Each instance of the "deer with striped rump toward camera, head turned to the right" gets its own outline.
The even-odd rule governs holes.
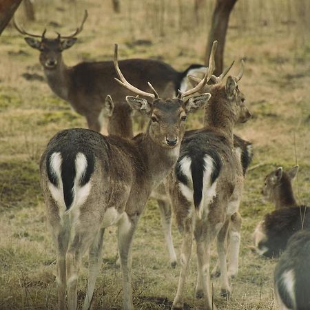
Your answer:
[[[233,141],[234,124],[251,116],[245,97],[238,89],[243,74],[227,78],[225,85],[206,85],[211,100],[205,106],[205,127],[183,139],[175,172],[169,174],[166,187],[172,200],[179,231],[183,234],[180,254],[180,278],[174,309],[183,309],[183,288],[193,236],[197,245],[198,279],[196,296],[211,302],[209,250],[217,236],[222,293],[229,295],[225,238],[229,220],[238,211],[243,173]]]

